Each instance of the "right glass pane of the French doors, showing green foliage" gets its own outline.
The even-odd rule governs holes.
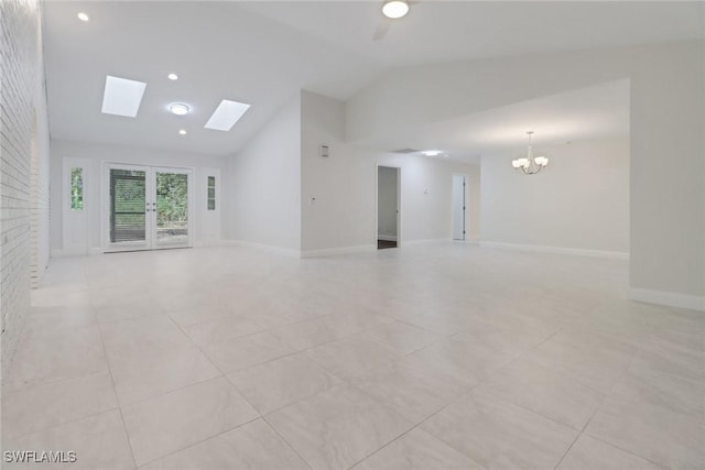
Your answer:
[[[156,242],[188,242],[188,175],[156,173]]]

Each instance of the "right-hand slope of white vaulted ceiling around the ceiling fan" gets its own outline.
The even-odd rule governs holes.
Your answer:
[[[380,42],[382,1],[242,7],[388,66],[703,37],[703,2],[419,0]]]

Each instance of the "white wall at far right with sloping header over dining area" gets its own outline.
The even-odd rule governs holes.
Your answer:
[[[348,101],[352,141],[629,78],[630,284],[705,300],[705,42],[395,69]],[[632,291],[636,292],[636,291]],[[671,303],[673,304],[673,303]]]

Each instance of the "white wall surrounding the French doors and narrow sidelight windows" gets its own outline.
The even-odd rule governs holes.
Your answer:
[[[88,251],[98,251],[102,248],[102,228],[100,227],[100,209],[102,200],[101,187],[105,163],[123,163],[153,166],[176,166],[195,168],[195,205],[194,241],[203,242],[202,226],[203,212],[206,210],[206,173],[207,168],[225,168],[226,159],[214,155],[196,155],[169,151],[135,149],[118,145],[101,145],[61,140],[51,141],[52,151],[52,251],[56,254],[64,253],[63,215],[62,208],[66,207],[65,198],[69,195],[69,182],[63,177],[63,159],[86,159],[88,168],[84,175],[86,193],[84,194],[84,207],[88,223]],[[225,173],[225,171],[223,172]],[[221,178],[226,187],[227,179]],[[227,201],[221,201],[227,205]],[[221,204],[224,206],[224,204]]]

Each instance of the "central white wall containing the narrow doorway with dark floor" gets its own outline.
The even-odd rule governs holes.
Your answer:
[[[478,200],[479,168],[442,157],[388,154],[348,144],[343,133],[344,108],[335,99],[302,94],[303,254],[376,245],[378,165],[401,168],[402,244],[449,240],[453,174],[466,174],[477,183],[473,197]],[[321,144],[329,145],[329,157],[318,155]],[[470,215],[477,216],[477,211]],[[471,220],[469,227],[479,227],[479,222]]]

